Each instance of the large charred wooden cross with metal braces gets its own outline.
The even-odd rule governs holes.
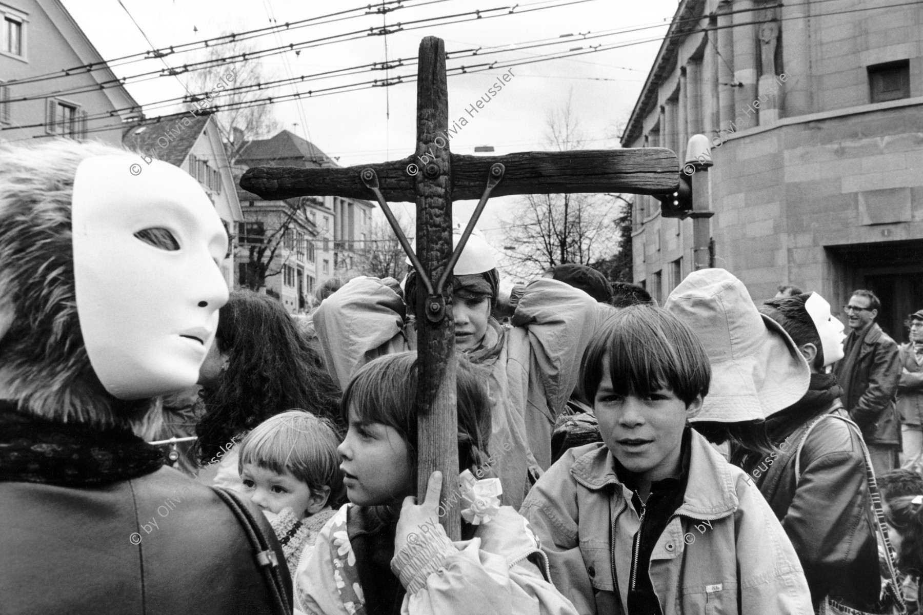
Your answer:
[[[408,252],[390,201],[416,202],[415,307],[419,384],[417,492],[426,494],[434,470],[443,476],[441,517],[450,538],[461,536],[458,498],[458,423],[455,407],[455,335],[452,320],[452,199],[480,198],[457,252],[489,195],[623,192],[664,195],[677,190],[676,154],[665,148],[523,152],[507,156],[462,156],[450,152],[446,53],[441,39],[420,42],[417,73],[416,153],[403,160],[337,169],[254,167],[240,185],[265,199],[375,195]],[[414,173],[414,174],[412,174]],[[436,281],[441,282],[440,284]]]

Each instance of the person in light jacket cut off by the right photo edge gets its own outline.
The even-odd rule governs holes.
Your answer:
[[[900,348],[901,380],[897,386],[897,413],[901,417],[904,465],[923,465],[923,310],[905,323],[910,341]]]

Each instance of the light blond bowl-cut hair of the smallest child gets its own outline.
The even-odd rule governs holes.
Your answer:
[[[246,435],[237,471],[254,464],[276,474],[290,472],[312,492],[330,487],[327,502],[336,506],[345,495],[339,445],[340,436],[329,419],[295,408],[264,420]]]

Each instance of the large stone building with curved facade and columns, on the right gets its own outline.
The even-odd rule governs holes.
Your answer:
[[[923,308],[923,5],[683,0],[622,136],[682,163],[712,139],[713,265],[762,302],[782,284],[834,306],[874,290],[905,339]],[[689,274],[692,220],[635,200],[634,279]]]

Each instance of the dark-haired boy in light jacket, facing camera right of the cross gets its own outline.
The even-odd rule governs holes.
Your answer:
[[[603,443],[570,449],[521,507],[579,612],[813,612],[760,491],[689,428],[710,382],[699,339],[653,306],[613,314],[587,349]]]

